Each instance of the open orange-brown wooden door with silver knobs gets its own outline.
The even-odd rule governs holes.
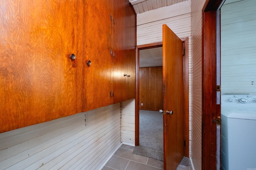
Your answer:
[[[164,169],[176,170],[184,156],[183,42],[163,25]]]

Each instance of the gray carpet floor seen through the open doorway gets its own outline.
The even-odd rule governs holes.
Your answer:
[[[163,161],[163,143],[163,115],[158,111],[140,110],[140,145],[133,153]],[[180,164],[189,166],[189,158],[184,157]]]

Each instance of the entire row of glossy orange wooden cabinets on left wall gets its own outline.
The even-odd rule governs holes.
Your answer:
[[[135,98],[135,37],[128,0],[1,1],[0,133]]]

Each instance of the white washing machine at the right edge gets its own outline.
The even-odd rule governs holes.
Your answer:
[[[256,170],[256,96],[221,96],[222,170]]]

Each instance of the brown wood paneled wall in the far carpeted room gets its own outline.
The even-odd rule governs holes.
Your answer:
[[[162,109],[162,84],[162,66],[140,68],[140,109],[155,111]]]

